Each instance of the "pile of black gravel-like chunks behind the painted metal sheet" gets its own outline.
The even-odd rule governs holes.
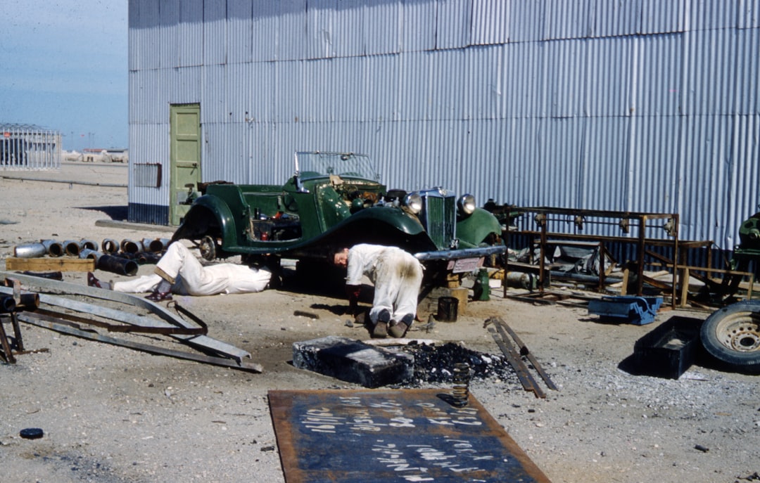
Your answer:
[[[502,355],[483,354],[455,343],[442,346],[409,345],[402,349],[414,356],[414,376],[410,384],[452,382],[454,364],[467,362],[471,379],[516,379],[515,371]]]

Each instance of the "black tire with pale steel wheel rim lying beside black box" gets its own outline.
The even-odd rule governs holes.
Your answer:
[[[714,311],[701,328],[702,346],[727,368],[760,374],[760,301]]]

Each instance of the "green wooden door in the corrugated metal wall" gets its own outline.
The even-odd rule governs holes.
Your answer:
[[[182,104],[169,108],[171,148],[169,221],[177,226],[190,209],[188,193],[201,181],[201,106]]]

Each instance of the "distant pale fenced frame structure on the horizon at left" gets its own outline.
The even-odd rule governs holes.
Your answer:
[[[57,169],[61,134],[23,128],[0,128],[0,169]]]

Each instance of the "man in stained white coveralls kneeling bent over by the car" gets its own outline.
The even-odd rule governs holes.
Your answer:
[[[417,298],[423,281],[423,266],[412,254],[397,247],[359,244],[340,248],[333,264],[347,268],[346,292],[350,311],[356,317],[357,302],[366,275],[375,285],[369,320],[373,337],[403,337],[417,313]]]

